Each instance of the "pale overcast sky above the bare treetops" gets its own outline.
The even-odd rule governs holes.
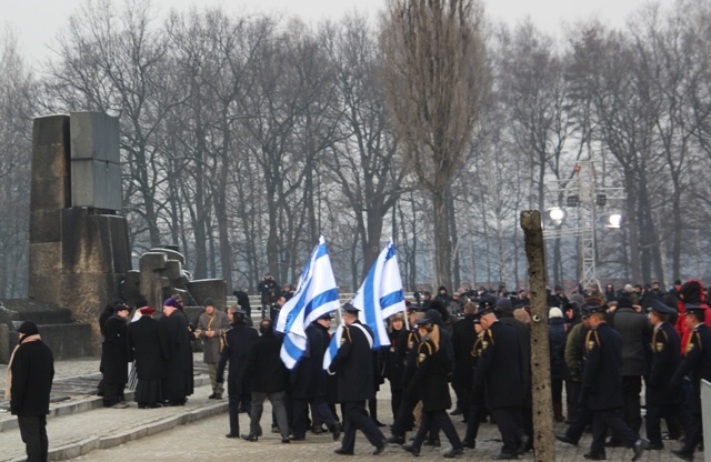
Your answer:
[[[120,0],[119,0],[120,1]],[[530,17],[542,30],[559,33],[563,22],[599,18],[608,24],[622,27],[624,18],[648,0],[484,0],[488,16],[511,26]],[[672,0],[661,0],[671,3]],[[32,62],[50,56],[48,46],[67,27],[69,16],[84,0],[0,0],[0,26],[9,24],[21,49]],[[171,7],[187,9],[191,4],[222,6],[227,11],[286,12],[307,21],[339,19],[358,10],[375,14],[385,0],[153,0],[159,12]],[[2,29],[2,28],[0,28]]]

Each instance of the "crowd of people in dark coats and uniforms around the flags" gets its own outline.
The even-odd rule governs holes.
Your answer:
[[[487,421],[501,433],[501,450],[492,459],[514,460],[532,449],[525,291],[481,288],[449,295],[442,287],[434,297],[415,293],[407,312],[387,320],[390,345],[375,351],[373,333],[359,321],[359,310],[347,304],[330,366],[322,368],[332,335],[331,314],[326,314],[307,329],[307,352],[288,370],[280,360],[283,337],[274,331],[273,318],[289,293],[271,284],[270,277],[264,281],[269,298],[262,302],[269,310],[262,309],[257,328],[250,311],[234,305],[224,313],[211,300],[194,322],[174,298],[163,302],[159,319],[152,308],[137,307],[132,322],[128,307],[117,302],[103,322],[104,404],[126,406],[129,363],[138,378],[139,408],[184,404],[193,391],[192,342],[199,340],[212,384],[208,398],[228,394],[228,438],[259,441],[269,399],[271,431],[280,433],[283,443],[306,440],[309,430],[329,431],[341,441],[337,454],[353,453],[360,430],[373,454],[399,444],[418,455],[422,445],[441,444],[441,430],[451,444],[443,455],[455,458],[477,446],[479,426]],[[591,428],[593,439],[584,454],[589,460],[604,460],[610,446],[631,448],[637,460],[644,450],[683,440],[672,454],[693,460],[702,444],[700,381],[711,380],[705,297],[693,280],[669,292],[658,284],[628,284],[619,291],[608,285],[588,293],[578,289],[570,298],[559,287],[549,291],[552,414],[568,424],[555,438],[577,445]],[[385,380],[391,391],[389,435],[375,413],[377,392]],[[250,416],[249,431],[242,433],[240,412]],[[452,416],[467,423],[463,435]],[[407,432],[414,430],[408,441]]]

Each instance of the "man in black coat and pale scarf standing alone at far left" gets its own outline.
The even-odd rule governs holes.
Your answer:
[[[18,416],[28,462],[44,462],[49,452],[47,414],[54,378],[54,356],[40,338],[37,324],[24,321],[18,329],[20,343],[8,364],[4,399]]]

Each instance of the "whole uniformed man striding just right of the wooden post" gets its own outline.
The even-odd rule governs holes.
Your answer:
[[[618,411],[622,408],[622,339],[608,325],[602,307],[589,307],[590,331],[585,339],[585,368],[582,378],[585,405],[592,412],[592,444],[583,456],[605,460],[604,436],[608,429],[612,436],[634,449],[638,460],[648,442],[624,423]]]

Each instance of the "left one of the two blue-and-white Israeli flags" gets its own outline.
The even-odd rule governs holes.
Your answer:
[[[323,237],[307,262],[297,291],[280,310],[277,331],[286,334],[281,360],[293,369],[307,348],[306,328],[322,314],[339,308],[338,287]]]

